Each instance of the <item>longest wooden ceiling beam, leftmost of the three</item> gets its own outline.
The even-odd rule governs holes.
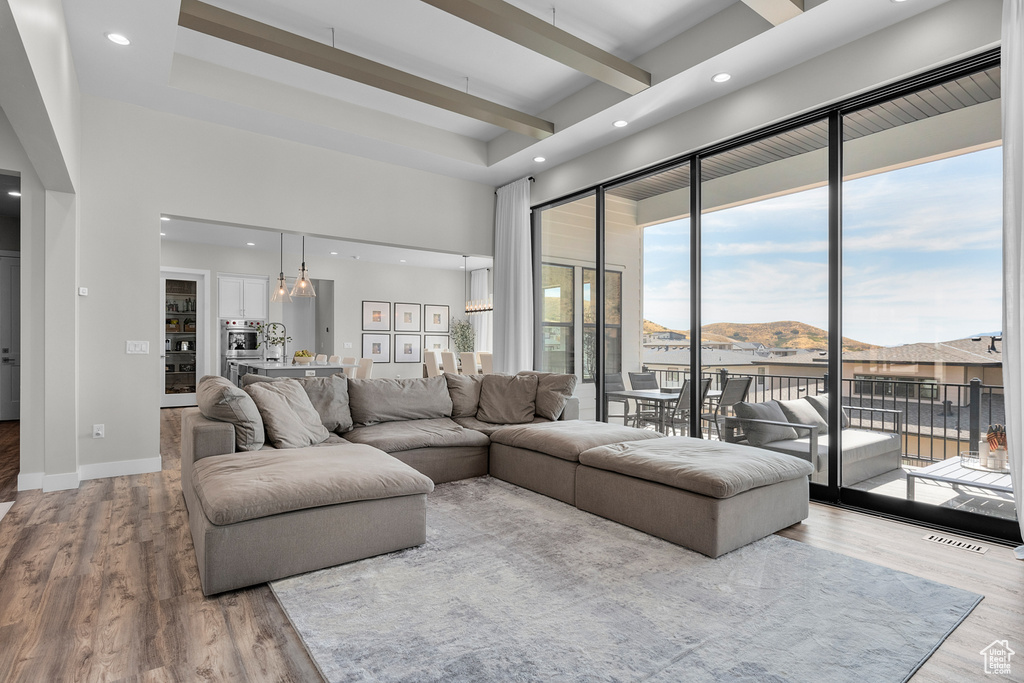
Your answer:
[[[214,7],[200,0],[181,0],[178,26],[477,121],[501,126],[539,140],[555,132],[555,125],[549,121]]]

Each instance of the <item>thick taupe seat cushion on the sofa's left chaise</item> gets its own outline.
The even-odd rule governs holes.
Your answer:
[[[224,525],[270,515],[433,490],[429,477],[377,449],[347,443],[204,458],[193,485],[207,518]]]

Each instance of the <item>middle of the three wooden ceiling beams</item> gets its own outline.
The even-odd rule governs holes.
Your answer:
[[[650,74],[503,0],[423,0],[631,95],[650,87]]]

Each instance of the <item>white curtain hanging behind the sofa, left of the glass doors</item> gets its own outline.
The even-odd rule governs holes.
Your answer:
[[[495,372],[534,369],[529,178],[498,188],[495,212]]]

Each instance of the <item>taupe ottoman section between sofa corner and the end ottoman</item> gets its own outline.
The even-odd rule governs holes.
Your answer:
[[[568,503],[575,502],[580,454],[662,434],[606,422],[568,420],[503,427],[490,435],[490,476]]]

